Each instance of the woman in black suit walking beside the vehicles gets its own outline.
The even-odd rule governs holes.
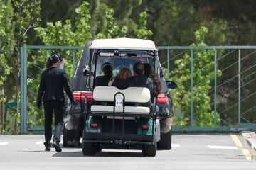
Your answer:
[[[72,96],[72,91],[68,83],[68,76],[64,69],[60,69],[62,59],[59,55],[52,55],[48,57],[46,67],[47,69],[41,74],[40,86],[38,89],[37,106],[40,109],[43,99],[43,106],[45,112],[45,140],[44,145],[46,151],[50,151],[50,140],[52,137],[52,122],[53,112],[55,115],[55,133],[53,136],[53,147],[57,152],[61,152],[60,136],[63,127],[64,114],[64,93],[65,89],[68,98],[72,103],[75,103]]]

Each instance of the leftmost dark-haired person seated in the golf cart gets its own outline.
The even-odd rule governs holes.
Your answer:
[[[105,62],[102,64],[103,76],[97,76],[95,79],[95,86],[107,86],[110,79],[113,77],[113,69],[110,62]]]

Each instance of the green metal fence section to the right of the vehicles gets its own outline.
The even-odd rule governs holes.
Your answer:
[[[191,92],[190,123],[186,127],[174,127],[177,131],[237,131],[256,129],[256,46],[206,46],[206,47],[158,47],[159,53],[164,53],[163,67],[167,67],[167,79],[172,79],[171,70],[177,67],[174,60],[181,59],[185,54],[190,55],[191,86],[187,89]],[[208,91],[212,99],[214,111],[214,127],[198,127],[194,125],[195,108],[193,93],[196,84],[193,84],[193,61],[196,50],[214,50],[210,60],[214,61],[213,88]],[[203,66],[201,69],[205,69]],[[217,76],[217,70],[223,74]],[[228,74],[228,75],[227,75]],[[231,85],[230,85],[231,84]],[[173,91],[173,93],[176,93]],[[223,96],[221,96],[223,95]],[[236,96],[236,97],[234,97]],[[230,97],[230,98],[229,98]],[[222,101],[222,100],[226,101]],[[220,115],[220,123],[216,123],[217,113]]]

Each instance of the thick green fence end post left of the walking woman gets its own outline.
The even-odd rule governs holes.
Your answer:
[[[25,94],[24,94],[24,48],[23,47],[21,47],[21,119],[20,119],[20,132],[21,132],[21,134],[23,134],[24,133],[24,124],[23,124],[23,122],[24,122],[24,115],[25,115],[25,113],[24,113],[24,100],[23,100],[23,98],[24,98],[24,96],[25,96]]]

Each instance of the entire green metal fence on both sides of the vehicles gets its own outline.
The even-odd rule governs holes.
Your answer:
[[[190,86],[187,91],[191,94],[189,121],[186,125],[174,126],[174,131],[238,131],[256,130],[256,46],[206,46],[206,47],[181,47],[181,46],[159,46],[159,56],[162,67],[166,68],[166,79],[172,80],[171,73],[178,65],[174,61],[189,55],[187,63],[190,69]],[[36,98],[36,88],[31,86],[38,83],[38,75],[41,74],[43,63],[38,62],[41,57],[47,56],[53,50],[60,50],[66,54],[66,59],[75,70],[82,47],[68,46],[24,46],[21,48],[21,133],[43,130],[42,125],[29,123],[29,120],[41,117],[43,113],[36,110],[33,101]],[[211,110],[213,110],[214,125],[211,127],[200,127],[196,125],[196,108],[194,91],[198,84],[194,83],[197,74],[195,56],[197,50],[214,50],[209,60],[214,62],[213,81],[210,82],[212,89],[208,91],[211,99]],[[44,60],[46,62],[46,58]],[[200,69],[207,69],[206,66]],[[221,70],[222,76],[218,77],[217,71]],[[32,83],[31,83],[32,81]],[[180,82],[178,82],[179,85]],[[178,89],[171,91],[176,93]],[[29,103],[29,104],[28,104]],[[28,107],[29,106],[29,107]],[[176,108],[174,116],[182,117],[182,107]],[[35,115],[33,112],[37,113]],[[178,113],[181,115],[178,115]],[[186,113],[188,114],[188,113]],[[217,122],[218,116],[220,122]]]

